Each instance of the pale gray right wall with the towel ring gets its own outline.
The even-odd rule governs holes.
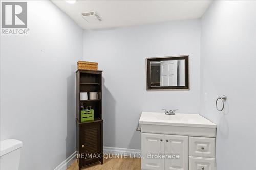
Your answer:
[[[219,170],[256,169],[255,8],[255,1],[215,1],[202,18],[201,114],[218,126]]]

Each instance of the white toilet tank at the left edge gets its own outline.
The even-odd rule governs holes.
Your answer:
[[[0,142],[0,169],[18,170],[22,142],[16,139],[7,139]]]

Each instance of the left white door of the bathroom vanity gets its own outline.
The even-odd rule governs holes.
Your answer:
[[[141,133],[141,169],[164,169],[164,159],[154,157],[164,154],[164,135]]]

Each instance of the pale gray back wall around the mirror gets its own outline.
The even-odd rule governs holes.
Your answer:
[[[140,149],[141,111],[200,110],[200,19],[84,31],[84,60],[103,70],[104,146]],[[189,91],[146,91],[145,58],[190,55]]]

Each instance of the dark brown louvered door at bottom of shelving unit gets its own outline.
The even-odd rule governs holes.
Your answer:
[[[102,161],[102,122],[80,124],[80,166]]]

